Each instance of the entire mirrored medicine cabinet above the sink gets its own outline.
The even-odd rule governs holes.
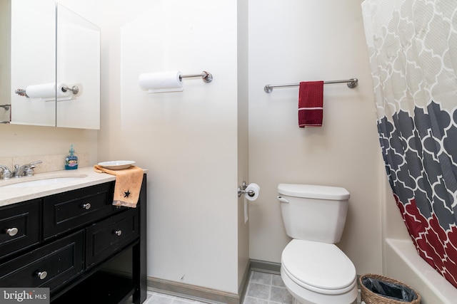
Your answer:
[[[53,0],[0,11],[0,122],[99,129],[99,28]]]

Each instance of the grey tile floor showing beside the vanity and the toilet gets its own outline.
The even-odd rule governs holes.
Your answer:
[[[251,271],[243,304],[278,303],[292,303],[292,296],[286,290],[281,276]],[[148,298],[144,304],[203,304],[203,302],[148,291]]]

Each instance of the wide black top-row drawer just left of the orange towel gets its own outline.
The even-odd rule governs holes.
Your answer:
[[[44,198],[44,239],[111,214],[113,188],[114,183],[99,184]]]

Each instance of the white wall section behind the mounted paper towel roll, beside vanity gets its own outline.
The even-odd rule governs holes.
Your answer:
[[[238,293],[236,1],[106,7],[99,149],[149,169],[148,276]],[[141,73],[165,70],[214,80],[184,80],[180,93],[139,88]]]

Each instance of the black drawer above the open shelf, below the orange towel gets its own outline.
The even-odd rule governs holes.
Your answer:
[[[139,209],[130,209],[86,229],[86,267],[121,250],[139,236]]]

